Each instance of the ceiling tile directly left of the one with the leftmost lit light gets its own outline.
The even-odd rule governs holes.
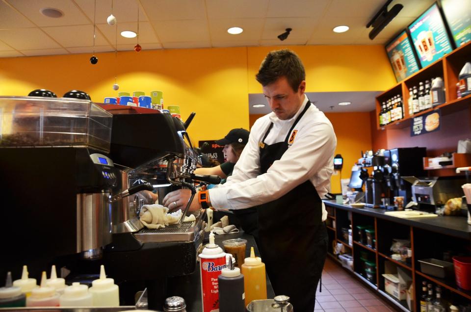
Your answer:
[[[42,27],[42,29],[63,47],[93,46],[93,25]],[[105,37],[97,31],[95,45],[106,44],[108,42]]]

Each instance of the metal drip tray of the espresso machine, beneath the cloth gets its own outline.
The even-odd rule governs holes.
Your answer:
[[[206,211],[191,212],[196,218],[193,222],[183,222],[179,228],[178,225],[172,224],[165,228],[160,229],[147,229],[144,228],[137,233],[134,237],[142,242],[171,242],[171,241],[194,241],[199,232],[204,229],[203,225]]]

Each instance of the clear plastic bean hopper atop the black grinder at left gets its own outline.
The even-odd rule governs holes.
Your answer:
[[[90,101],[0,97],[0,146],[83,145],[108,153],[112,119]]]

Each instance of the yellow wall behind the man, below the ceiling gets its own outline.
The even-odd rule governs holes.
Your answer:
[[[249,129],[248,94],[262,88],[254,76],[267,52],[281,47],[181,49],[0,58],[0,95],[46,88],[58,96],[86,91],[95,102],[119,91],[162,90],[164,105],[182,118],[195,111],[194,141],[218,139],[233,128]],[[307,91],[372,91],[394,84],[382,46],[292,46],[306,67]]]

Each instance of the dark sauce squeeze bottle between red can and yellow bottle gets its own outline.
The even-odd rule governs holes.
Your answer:
[[[229,256],[228,267],[221,270],[218,283],[219,311],[245,311],[244,276],[240,274],[238,267],[234,267],[231,256]]]

